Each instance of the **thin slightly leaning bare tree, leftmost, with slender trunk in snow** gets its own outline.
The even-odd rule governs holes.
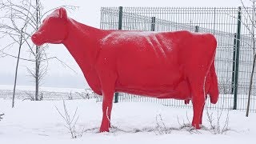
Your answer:
[[[5,36],[9,36],[12,39],[11,44],[17,43],[18,44],[18,58],[16,63],[15,69],[15,78],[14,78],[14,93],[13,93],[13,102],[12,107],[14,107],[14,97],[15,97],[15,90],[16,90],[16,82],[17,82],[17,74],[18,74],[18,63],[20,59],[21,49],[24,42],[27,42],[27,39],[30,37],[30,34],[27,34],[27,26],[30,24],[31,21],[31,14],[30,10],[31,1],[23,1],[22,6],[16,5],[11,1],[7,0],[6,2],[0,2],[0,9],[5,10],[6,14],[2,16],[6,22],[2,22],[0,24],[0,32],[5,34]],[[7,24],[9,23],[9,24]],[[12,46],[12,45],[8,45]],[[7,48],[7,47],[5,47]],[[5,54],[1,50],[2,54]]]

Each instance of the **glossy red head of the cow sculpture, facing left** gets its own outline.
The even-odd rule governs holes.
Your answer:
[[[67,14],[64,8],[54,10],[43,21],[32,35],[32,41],[35,45],[41,46],[44,43],[62,43],[67,36]]]

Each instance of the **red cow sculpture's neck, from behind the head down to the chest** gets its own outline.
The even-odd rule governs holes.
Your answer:
[[[68,36],[63,44],[70,51],[70,54],[78,62],[86,81],[94,91],[98,91],[99,81],[94,65],[100,47],[99,39],[102,31],[96,28],[83,25],[73,19],[67,23]]]

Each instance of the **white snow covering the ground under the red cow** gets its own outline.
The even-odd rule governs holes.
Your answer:
[[[102,102],[96,99],[66,100],[70,115],[78,108],[79,116],[76,129],[84,129],[82,137],[70,138],[65,121],[58,114],[55,106],[63,113],[62,100],[31,102],[17,100],[11,108],[10,99],[0,99],[0,113],[4,118],[0,122],[0,142],[16,143],[252,143],[256,140],[256,114],[245,117],[244,111],[230,110],[230,130],[226,134],[212,134],[207,122],[206,110],[203,115],[203,130],[179,129],[183,123],[192,119],[192,109],[178,109],[153,102],[118,102],[114,103],[109,133],[98,133],[102,120]],[[221,111],[209,110],[214,120]],[[228,111],[222,111],[221,127],[226,122]],[[162,117],[162,121],[161,118]],[[181,124],[179,124],[179,122]],[[170,134],[160,134],[156,126],[166,126]],[[164,125],[163,125],[164,124]]]

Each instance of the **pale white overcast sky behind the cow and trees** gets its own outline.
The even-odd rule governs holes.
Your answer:
[[[14,2],[16,1],[18,0],[15,0]],[[249,2],[249,0],[246,1]],[[248,5],[248,2],[246,2],[246,5],[250,6]],[[99,27],[100,8],[102,6],[238,7],[241,6],[241,2],[240,0],[42,0],[42,5],[45,10],[62,5],[79,6],[78,10],[69,12],[68,15],[78,22]],[[6,41],[8,40],[0,39],[0,48],[5,46]],[[88,87],[85,78],[83,78],[82,71],[64,46],[50,45],[47,53],[50,56],[57,56],[63,62],[66,62],[76,71],[76,73],[74,73],[73,70],[62,66],[61,62],[49,61],[49,71],[42,83],[43,86]],[[16,59],[14,58],[0,58],[0,85],[13,85],[15,64]],[[33,85],[33,82],[31,82],[31,79],[27,75],[26,63],[21,62],[18,71],[18,85]]]

